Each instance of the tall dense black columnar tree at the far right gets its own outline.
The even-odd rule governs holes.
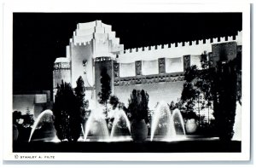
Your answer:
[[[212,84],[213,116],[221,140],[230,141],[234,135],[236,116],[237,75],[235,61],[218,62],[215,82]]]

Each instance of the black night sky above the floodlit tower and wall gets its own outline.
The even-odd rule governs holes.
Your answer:
[[[78,23],[102,20],[111,25],[125,49],[234,36],[241,31],[241,13],[14,13],[13,89],[52,90],[55,58]]]

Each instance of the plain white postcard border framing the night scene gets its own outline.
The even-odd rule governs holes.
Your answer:
[[[12,14],[14,12],[242,12],[241,153],[13,153],[12,152]],[[3,159],[4,160],[106,160],[106,161],[207,161],[250,159],[250,5],[154,3],[5,3],[3,6]],[[35,55],[36,56],[36,55]],[[35,156],[34,159],[20,156]],[[39,156],[41,158],[39,158]],[[53,156],[54,158],[50,158]],[[49,157],[49,158],[47,158]]]

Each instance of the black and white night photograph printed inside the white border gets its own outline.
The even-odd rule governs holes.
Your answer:
[[[13,159],[241,154],[243,14],[13,12]]]

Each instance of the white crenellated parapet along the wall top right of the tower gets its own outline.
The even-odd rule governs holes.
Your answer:
[[[130,63],[138,60],[152,61],[162,57],[177,58],[183,55],[201,55],[202,52],[212,52],[212,44],[236,42],[241,45],[241,32],[236,36],[208,38],[190,42],[167,43],[142,48],[125,49],[117,59],[120,63]]]

